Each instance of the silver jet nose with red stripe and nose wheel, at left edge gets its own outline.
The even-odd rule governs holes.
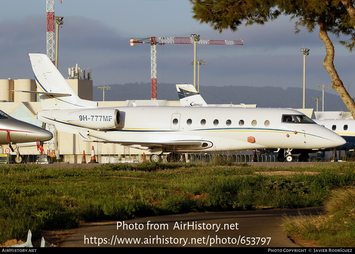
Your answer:
[[[8,144],[12,151],[12,146],[16,145],[15,163],[23,161],[19,147],[42,146],[44,141],[51,138],[53,134],[46,129],[17,120],[0,110],[0,145]]]

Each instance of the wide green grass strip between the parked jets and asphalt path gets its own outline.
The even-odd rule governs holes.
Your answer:
[[[223,166],[218,166],[223,165]],[[255,206],[301,208],[323,205],[333,189],[353,186],[353,164],[256,167],[227,161],[105,164],[92,169],[0,167],[0,242],[34,237],[40,230],[79,222],[204,211],[250,210]],[[288,170],[294,176],[255,172]],[[305,175],[304,171],[320,172]]]

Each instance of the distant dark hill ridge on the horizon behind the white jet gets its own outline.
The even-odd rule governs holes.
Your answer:
[[[157,85],[157,99],[179,100],[175,84]],[[102,101],[102,90],[93,87],[93,99]],[[302,108],[302,88],[289,87],[247,87],[224,86],[204,87],[200,85],[200,94],[208,104],[257,104],[258,107],[292,107]],[[306,89],[306,108],[313,107],[316,110],[316,101],[312,97],[321,97],[322,90]],[[348,111],[339,95],[324,92],[325,111]],[[149,100],[151,99],[150,83],[111,84],[111,90],[105,90],[106,101],[123,100]],[[322,101],[318,103],[318,110],[322,110]]]

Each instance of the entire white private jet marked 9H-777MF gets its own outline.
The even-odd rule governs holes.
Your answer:
[[[43,111],[39,121],[58,131],[103,143],[117,143],[151,151],[159,161],[163,152],[203,153],[247,149],[323,149],[345,143],[338,134],[291,109],[237,107],[130,106],[97,107],[80,99],[44,54],[31,59]],[[26,91],[22,91],[26,92]],[[285,116],[304,121],[283,121]],[[293,160],[291,153],[288,161]]]

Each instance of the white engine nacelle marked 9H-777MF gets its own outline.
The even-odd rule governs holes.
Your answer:
[[[61,116],[60,120],[89,129],[112,129],[120,125],[121,114],[118,109],[82,109]]]

